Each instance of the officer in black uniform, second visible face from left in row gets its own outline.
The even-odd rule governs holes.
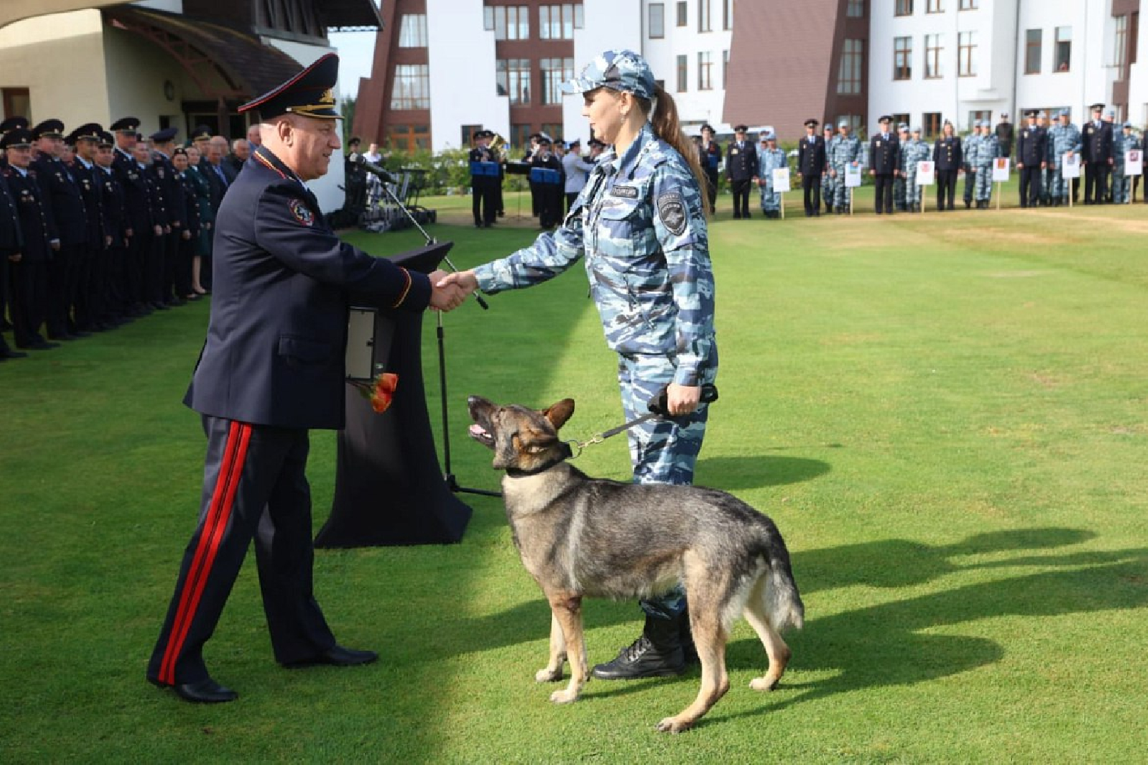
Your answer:
[[[87,327],[78,327],[72,315],[80,268],[87,257],[87,211],[79,193],[79,185],[71,171],[60,161],[64,124],[45,119],[32,128],[36,151],[32,171],[40,185],[40,196],[49,208],[54,229],[59,233],[52,243],[48,260],[48,306],[45,318],[48,337],[73,339],[85,337]]]

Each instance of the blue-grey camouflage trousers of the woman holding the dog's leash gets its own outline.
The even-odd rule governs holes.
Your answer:
[[[674,362],[665,356],[634,354],[618,357],[618,385],[622,393],[626,421],[647,414],[647,404],[667,383],[674,381]],[[713,382],[716,368],[703,375]],[[634,483],[689,485],[693,483],[693,466],[706,435],[709,406],[701,404],[693,414],[670,420],[646,420],[630,428],[630,462]],[[670,592],[641,601],[642,610],[656,618],[676,618],[685,610],[685,590],[678,583]]]

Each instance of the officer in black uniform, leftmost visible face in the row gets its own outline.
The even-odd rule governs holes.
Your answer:
[[[10,258],[11,323],[16,348],[47,350],[57,348],[40,335],[48,310],[48,263],[60,245],[52,208],[42,197],[40,184],[32,170],[32,132],[16,127],[0,139],[8,166],[3,171],[8,192],[20,214],[23,248],[18,258]]]

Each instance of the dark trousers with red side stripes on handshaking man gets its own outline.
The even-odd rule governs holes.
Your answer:
[[[147,670],[148,679],[162,685],[208,677],[203,645],[253,538],[276,661],[307,661],[335,645],[311,587],[308,432],[207,415],[203,429],[208,454],[200,522]]]

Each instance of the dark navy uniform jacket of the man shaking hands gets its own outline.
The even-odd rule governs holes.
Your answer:
[[[347,244],[265,147],[216,217],[211,320],[184,403],[282,428],[343,427],[348,299],[421,311],[430,281]]]

